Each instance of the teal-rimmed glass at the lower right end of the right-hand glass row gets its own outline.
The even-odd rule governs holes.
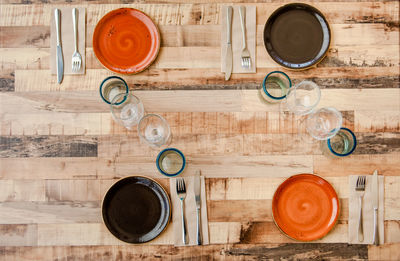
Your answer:
[[[357,146],[354,133],[348,128],[340,128],[339,132],[332,138],[322,141],[324,154],[345,157],[353,153]]]

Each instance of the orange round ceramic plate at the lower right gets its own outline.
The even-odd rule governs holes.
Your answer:
[[[272,213],[287,236],[312,241],[325,236],[339,217],[339,199],[326,180],[312,174],[295,175],[275,191]]]

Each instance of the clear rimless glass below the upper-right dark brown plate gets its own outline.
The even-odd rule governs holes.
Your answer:
[[[285,103],[289,111],[296,115],[306,115],[313,111],[321,98],[321,90],[311,81],[302,81],[289,89]]]

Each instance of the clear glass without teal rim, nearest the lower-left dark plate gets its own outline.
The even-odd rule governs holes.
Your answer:
[[[151,147],[159,148],[170,141],[171,130],[168,122],[157,114],[147,114],[138,125],[140,139]]]

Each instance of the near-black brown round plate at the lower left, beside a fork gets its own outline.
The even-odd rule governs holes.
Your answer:
[[[171,216],[168,194],[152,179],[132,176],[106,193],[102,214],[108,230],[128,243],[148,242],[165,229]]]

